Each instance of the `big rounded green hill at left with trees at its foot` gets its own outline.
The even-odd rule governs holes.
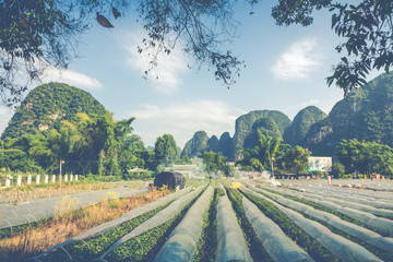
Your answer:
[[[172,135],[157,138],[155,151],[147,151],[132,133],[133,120],[115,120],[74,86],[40,85],[22,102],[0,140],[0,168],[58,174],[63,160],[64,172],[127,177],[135,167],[157,171],[179,160]]]

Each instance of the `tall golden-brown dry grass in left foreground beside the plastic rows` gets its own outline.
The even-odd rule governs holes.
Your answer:
[[[70,210],[73,210],[76,204],[75,199],[64,198],[58,203],[57,213],[51,221],[25,233],[15,234],[11,238],[0,240],[0,261],[26,261],[26,259],[57,243],[99,224],[116,219],[120,215],[155,201],[168,192],[168,190],[152,190],[122,200],[107,200],[108,195],[103,195],[103,201],[99,204],[71,212]]]

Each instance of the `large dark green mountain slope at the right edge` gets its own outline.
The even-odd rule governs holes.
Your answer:
[[[329,117],[312,124],[305,145],[317,154],[333,154],[343,139],[393,146],[393,73],[381,74],[340,100]]]

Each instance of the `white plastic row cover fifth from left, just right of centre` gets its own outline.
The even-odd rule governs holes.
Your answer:
[[[272,219],[263,215],[253,203],[248,199],[242,198],[242,204],[246,216],[255,230],[258,239],[274,261],[313,261],[312,258],[290,240]]]

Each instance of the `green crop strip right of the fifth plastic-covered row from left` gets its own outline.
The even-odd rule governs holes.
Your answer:
[[[241,191],[241,190],[240,190]],[[274,204],[255,198],[251,194],[241,191],[246,198],[253,202],[262,213],[277,224],[282,230],[300,248],[309,253],[315,261],[334,261],[338,262],[327,249],[322,247],[317,240],[311,238],[307,233],[299,228],[290,218],[288,218],[282,211]]]

